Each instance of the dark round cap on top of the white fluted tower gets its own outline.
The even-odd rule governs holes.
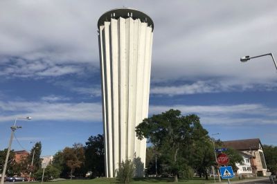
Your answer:
[[[154,30],[154,23],[152,19],[144,12],[134,10],[132,8],[117,8],[105,12],[98,20],[98,29],[101,25],[104,25],[105,21],[111,21],[111,19],[119,19],[119,17],[123,17],[125,19],[129,17],[132,17],[133,19],[141,19],[142,22],[145,22],[148,24],[148,26],[152,27],[152,31]]]

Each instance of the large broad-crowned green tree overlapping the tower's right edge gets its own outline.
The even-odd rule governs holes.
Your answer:
[[[164,113],[145,118],[136,127],[136,136],[141,140],[148,138],[157,147],[170,172],[178,181],[178,174],[186,167],[188,160],[181,150],[192,145],[197,136],[206,134],[199,117],[195,114],[181,116],[181,111],[170,109]]]

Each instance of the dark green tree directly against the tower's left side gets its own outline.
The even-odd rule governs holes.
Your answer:
[[[90,136],[84,147],[85,167],[93,177],[105,176],[104,137],[101,134]]]

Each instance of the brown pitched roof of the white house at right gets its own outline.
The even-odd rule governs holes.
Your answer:
[[[225,147],[231,147],[236,150],[253,150],[253,149],[259,149],[259,145],[262,145],[260,143],[259,138],[252,138],[252,139],[242,139],[242,140],[228,140],[223,141],[223,144]]]

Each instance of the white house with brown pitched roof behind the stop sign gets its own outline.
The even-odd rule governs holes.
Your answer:
[[[259,138],[223,141],[224,146],[240,152],[243,163],[237,163],[240,176],[269,176]]]

